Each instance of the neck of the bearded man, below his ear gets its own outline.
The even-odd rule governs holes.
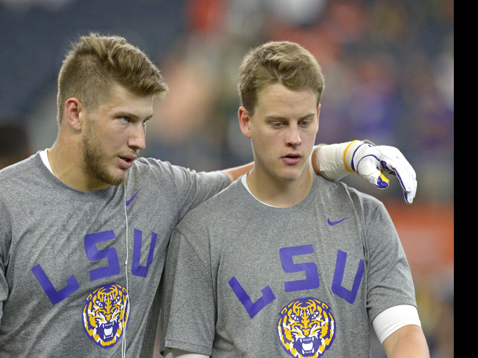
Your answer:
[[[81,153],[81,142],[62,136],[61,132],[58,134],[53,147],[46,151],[56,179],[76,190],[91,191],[108,188],[109,184],[85,173]]]

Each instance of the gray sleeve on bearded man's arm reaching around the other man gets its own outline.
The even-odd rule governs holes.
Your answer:
[[[177,188],[181,220],[189,211],[228,187],[231,183],[223,171],[196,172],[189,168],[172,166]]]

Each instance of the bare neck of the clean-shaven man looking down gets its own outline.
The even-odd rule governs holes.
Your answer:
[[[279,208],[288,208],[305,199],[312,188],[314,176],[305,169],[297,180],[280,180],[254,166],[246,180],[250,192],[258,200]]]

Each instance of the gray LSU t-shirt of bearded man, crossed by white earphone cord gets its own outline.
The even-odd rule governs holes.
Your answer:
[[[66,186],[39,153],[1,170],[0,357],[121,357],[125,326],[126,356],[151,357],[171,232],[229,183],[139,158],[125,198]]]

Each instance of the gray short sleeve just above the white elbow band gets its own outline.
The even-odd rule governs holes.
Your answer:
[[[369,252],[367,311],[370,321],[396,305],[416,307],[412,274],[402,243],[384,205],[378,202],[366,217]]]

